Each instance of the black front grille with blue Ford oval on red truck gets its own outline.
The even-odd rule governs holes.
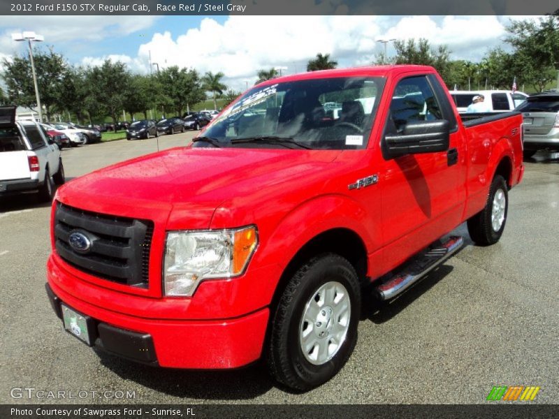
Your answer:
[[[55,247],[59,256],[78,270],[119,284],[147,288],[153,228],[152,221],[98,214],[57,203]]]

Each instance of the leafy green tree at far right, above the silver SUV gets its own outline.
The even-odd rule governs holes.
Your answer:
[[[507,27],[505,42],[514,47],[517,81],[542,91],[559,71],[559,16],[542,17],[538,22],[521,20]]]

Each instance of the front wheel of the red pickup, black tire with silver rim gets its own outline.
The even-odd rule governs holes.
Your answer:
[[[360,311],[354,267],[334,253],[309,260],[293,275],[273,314],[270,374],[299,391],[326,383],[354,350]]]

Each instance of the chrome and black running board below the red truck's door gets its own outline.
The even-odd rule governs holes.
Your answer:
[[[375,293],[380,300],[390,300],[412,286],[418,279],[456,253],[464,243],[463,237],[450,236],[444,242],[437,242],[422,253],[417,254],[393,276],[376,286]]]

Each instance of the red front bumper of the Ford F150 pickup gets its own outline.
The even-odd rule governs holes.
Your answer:
[[[52,308],[57,316],[61,316],[59,304],[64,302],[90,316],[98,334],[94,344],[106,351],[138,362],[188,369],[236,368],[260,358],[268,324],[268,308],[218,320],[156,318],[157,315],[150,313],[150,308],[157,307],[154,304],[157,299],[145,297],[144,316],[132,316],[80,300],[64,291],[55,281],[55,277],[61,274],[59,271],[53,275],[50,269],[47,270]],[[114,298],[119,295],[115,292]],[[110,335],[106,332],[108,328]],[[122,341],[131,343],[118,343]]]

